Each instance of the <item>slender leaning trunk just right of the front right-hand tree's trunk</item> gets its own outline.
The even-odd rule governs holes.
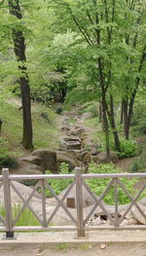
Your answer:
[[[120,139],[118,135],[118,131],[116,128],[116,122],[115,122],[115,116],[114,116],[114,102],[113,102],[113,96],[110,94],[110,111],[107,109],[107,114],[110,122],[110,126],[112,128],[114,141],[115,141],[115,149],[119,152],[121,152],[121,146],[120,146]]]

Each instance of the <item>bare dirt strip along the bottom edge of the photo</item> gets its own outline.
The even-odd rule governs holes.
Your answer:
[[[103,244],[104,247],[105,244]],[[101,245],[81,244],[77,248],[59,244],[55,248],[0,248],[0,256],[146,256],[146,243]]]

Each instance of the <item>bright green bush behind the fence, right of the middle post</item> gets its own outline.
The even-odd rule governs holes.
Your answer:
[[[90,172],[101,173],[101,174],[102,173],[122,173],[122,171],[113,164],[108,164],[108,165],[91,164]],[[99,197],[108,186],[110,180],[111,179],[108,179],[108,178],[98,178],[98,179],[93,178],[93,179],[88,179],[86,182],[90,186],[91,191]],[[129,194],[133,196],[136,192],[133,186],[138,181],[138,179],[121,178],[120,180],[128,189]],[[108,204],[114,204],[115,202],[114,198],[115,198],[114,187],[112,186],[112,188],[107,192],[103,201],[105,201]],[[129,202],[127,195],[125,194],[123,189],[119,186],[118,186],[118,201],[120,204],[125,204]]]

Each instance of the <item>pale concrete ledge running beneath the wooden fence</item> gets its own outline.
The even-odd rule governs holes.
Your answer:
[[[42,246],[57,244],[101,244],[101,243],[130,243],[145,242],[146,231],[96,231],[88,232],[86,238],[77,238],[75,232],[38,232],[38,233],[17,233],[15,239],[5,239],[4,234],[0,234],[0,248],[10,246]]]

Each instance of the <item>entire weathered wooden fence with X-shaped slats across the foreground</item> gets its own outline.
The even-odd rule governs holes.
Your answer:
[[[141,209],[140,205],[138,204],[138,200],[142,193],[144,192],[146,188],[146,182],[143,182],[143,185],[139,189],[137,195],[134,197],[131,197],[130,193],[128,192],[128,189],[126,188],[125,184],[121,181],[121,178],[146,178],[146,173],[113,173],[113,174],[84,174],[82,173],[81,168],[76,167],[75,172],[73,174],[39,174],[39,175],[10,175],[9,169],[3,169],[2,175],[0,175],[0,189],[3,189],[4,193],[4,206],[5,206],[5,217],[0,216],[0,231],[6,233],[6,238],[14,238],[14,233],[18,231],[77,231],[77,236],[79,238],[83,238],[86,235],[86,231],[89,230],[98,230],[98,229],[144,229],[146,228],[146,225],[135,225],[135,226],[121,226],[122,222],[124,221],[125,217],[128,215],[128,212],[130,211],[131,207],[134,205],[135,208],[140,212],[142,217],[146,220],[146,215],[144,211]],[[108,178],[110,181],[107,185],[107,187],[104,189],[104,191],[101,192],[101,195],[99,197],[96,197],[93,192],[91,191],[91,188],[87,185],[86,180],[87,179],[105,179]],[[67,188],[65,194],[60,197],[58,197],[55,194],[54,189],[50,186],[49,182],[47,180],[49,179],[72,179],[71,184]],[[18,188],[16,187],[14,181],[20,181],[20,180],[36,180],[36,185],[32,189],[31,194],[25,199],[20,191],[18,191]],[[60,181],[61,182],[61,181]],[[71,189],[73,186],[76,186],[76,218],[72,215],[69,208],[66,206],[64,201],[67,199]],[[88,216],[84,216],[84,207],[83,207],[83,187],[86,188],[86,190],[91,195],[91,198],[94,200],[94,204],[91,207],[91,211],[88,213]],[[115,200],[115,213],[112,216],[108,209],[106,208],[106,204],[103,203],[103,200],[110,190],[110,188],[114,188],[114,200]],[[130,203],[128,204],[128,207],[126,208],[125,213],[121,216],[119,214],[119,195],[118,195],[118,188],[121,188],[123,192],[127,195],[128,200]],[[35,210],[33,209],[32,205],[30,205],[30,201],[32,200],[35,192],[38,191],[38,189],[41,189],[41,201],[42,201],[42,218],[40,218]],[[49,190],[53,197],[55,198],[56,206],[55,210],[49,217],[47,218],[47,211],[46,211],[46,196],[45,196],[45,190]],[[18,211],[18,215],[14,218],[13,217],[13,201],[11,197],[12,190],[15,191],[15,193],[18,195],[18,198],[21,201],[21,206]],[[69,216],[69,218],[72,220],[73,225],[72,226],[52,226],[52,220],[55,217],[55,214],[58,210],[58,208],[61,207],[65,213]],[[92,213],[95,211],[97,207],[100,207],[102,211],[105,213],[107,218],[110,221],[110,226],[89,226],[88,221],[91,218]],[[28,208],[31,213],[35,216],[35,218],[40,223],[40,226],[17,226],[18,219],[21,215],[21,213],[25,210],[25,208]],[[87,225],[88,224],[88,225]]]

